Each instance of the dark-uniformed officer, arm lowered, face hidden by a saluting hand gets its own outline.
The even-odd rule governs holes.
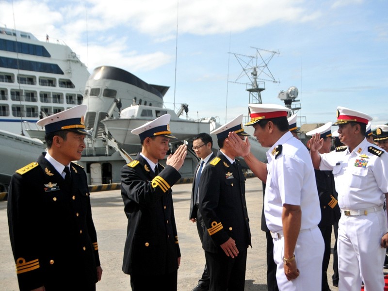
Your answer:
[[[245,201],[245,178],[236,151],[225,143],[230,131],[248,134],[242,114],[214,130],[220,150],[205,166],[199,185],[199,211],[207,231],[202,247],[210,275],[210,291],[243,291],[248,245],[251,244]]]

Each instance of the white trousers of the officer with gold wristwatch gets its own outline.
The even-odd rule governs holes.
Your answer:
[[[322,288],[322,260],[324,242],[318,227],[299,233],[295,246],[299,276],[291,281],[284,274],[284,238],[274,239],[276,280],[280,291],[319,291]],[[359,290],[358,290],[359,291]]]

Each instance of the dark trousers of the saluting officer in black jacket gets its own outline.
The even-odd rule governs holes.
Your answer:
[[[132,291],[177,291],[178,271],[166,275],[130,275]],[[114,288],[113,288],[114,289]]]

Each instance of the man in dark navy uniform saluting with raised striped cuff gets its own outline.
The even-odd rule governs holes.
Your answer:
[[[121,195],[128,218],[123,272],[130,275],[132,291],[177,290],[180,263],[171,186],[180,174],[187,146],[181,145],[159,163],[175,139],[164,114],[131,133],[140,137],[142,152],[121,169]]]

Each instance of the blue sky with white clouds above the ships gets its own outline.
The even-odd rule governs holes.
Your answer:
[[[0,0],[0,26],[64,41],[90,72],[112,65],[170,86],[166,107],[220,123],[247,114],[234,53],[276,51],[268,69],[280,82],[265,81],[263,103],[283,104],[278,92],[296,86],[307,123],[344,106],[374,129],[388,122],[387,11],[386,0]]]

